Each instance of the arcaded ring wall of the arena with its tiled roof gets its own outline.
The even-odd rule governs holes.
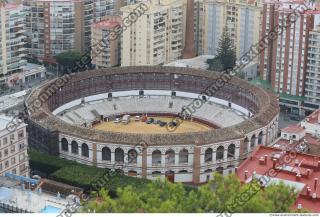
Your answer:
[[[39,97],[50,93],[55,80],[50,81],[34,90],[26,101],[29,144],[52,155],[102,168],[113,168],[120,154],[125,174],[204,183],[212,178],[212,172],[228,174],[257,145],[274,141],[279,117],[276,96],[233,77],[211,97],[242,106],[254,116],[231,127],[196,133],[104,132],[67,124],[52,111],[73,100],[116,91],[155,89],[201,94],[219,76],[204,70],[160,66],[87,71],[72,74],[67,83],[47,94],[41,108],[30,109]],[[147,144],[146,148],[137,150],[135,146],[140,143]],[[128,163],[128,153],[132,152],[137,154],[137,161]],[[174,162],[169,163],[168,156]]]

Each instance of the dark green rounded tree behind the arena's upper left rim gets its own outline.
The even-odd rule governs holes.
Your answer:
[[[65,74],[68,69],[72,69],[75,63],[81,59],[81,54],[77,51],[66,51],[56,55],[55,59],[58,63],[59,71]]]

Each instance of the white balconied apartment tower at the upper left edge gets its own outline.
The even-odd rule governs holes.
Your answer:
[[[14,82],[12,76],[26,65],[22,5],[0,5],[0,28],[0,83],[11,83]]]

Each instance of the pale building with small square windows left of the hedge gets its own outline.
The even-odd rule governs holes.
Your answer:
[[[17,124],[16,129],[8,130],[11,121],[12,117],[0,114],[0,176],[8,172],[28,177],[27,125]]]

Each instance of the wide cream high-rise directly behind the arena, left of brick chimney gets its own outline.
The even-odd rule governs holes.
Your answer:
[[[152,0],[121,8],[122,19],[130,13],[139,18],[124,26],[122,66],[162,65],[181,58],[184,48],[185,8],[181,0]],[[144,11],[146,9],[146,11]]]

